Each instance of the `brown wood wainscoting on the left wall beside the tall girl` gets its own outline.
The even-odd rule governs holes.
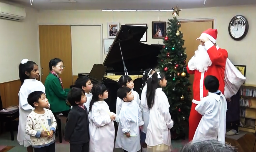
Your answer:
[[[40,81],[40,77],[37,80]],[[0,94],[3,108],[7,108],[12,105],[19,105],[18,93],[20,86],[20,80],[13,80],[0,84]]]

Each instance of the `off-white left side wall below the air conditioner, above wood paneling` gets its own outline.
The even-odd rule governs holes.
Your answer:
[[[26,8],[22,22],[0,19],[0,83],[19,79],[18,66],[24,58],[40,65],[37,13]]]

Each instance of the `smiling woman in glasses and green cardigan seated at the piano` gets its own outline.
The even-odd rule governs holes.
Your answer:
[[[52,113],[62,113],[67,117],[70,106],[66,103],[70,89],[64,89],[59,75],[63,72],[63,62],[59,58],[51,59],[49,62],[50,73],[45,80],[46,98],[51,104]]]

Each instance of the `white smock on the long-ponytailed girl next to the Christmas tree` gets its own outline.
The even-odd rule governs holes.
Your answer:
[[[169,108],[167,96],[162,88],[157,88],[154,105],[150,109],[145,141],[149,152],[169,152],[171,150],[170,129],[173,127],[173,120]]]

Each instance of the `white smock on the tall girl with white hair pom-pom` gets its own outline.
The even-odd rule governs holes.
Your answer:
[[[25,133],[25,126],[28,114],[34,110],[34,108],[28,104],[27,98],[28,95],[34,91],[42,91],[45,93],[45,86],[41,81],[26,79],[19,90],[19,128],[17,141],[24,147],[31,146],[31,139],[30,136]]]

